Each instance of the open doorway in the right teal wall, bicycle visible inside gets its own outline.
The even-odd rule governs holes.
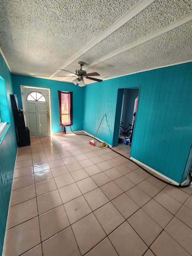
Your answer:
[[[128,153],[131,152],[138,102],[139,88],[118,90],[113,146]]]

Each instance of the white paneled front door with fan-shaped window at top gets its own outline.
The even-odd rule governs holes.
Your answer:
[[[22,86],[22,100],[30,136],[50,136],[49,90]]]

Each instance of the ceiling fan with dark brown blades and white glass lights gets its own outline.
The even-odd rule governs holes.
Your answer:
[[[85,71],[85,70],[82,70],[82,66],[84,66],[84,62],[82,61],[79,61],[79,66],[80,66],[80,69],[77,69],[75,71],[75,73],[73,72],[70,72],[70,71],[67,71],[67,70],[64,70],[64,69],[61,69],[63,71],[67,71],[67,72],[70,72],[72,74],[74,74],[75,76],[71,76],[71,77],[76,77],[77,78],[75,80],[73,80],[72,82],[76,85],[78,83],[78,85],[80,87],[83,87],[85,86],[85,82],[83,80],[83,78],[86,78],[86,79],[90,79],[90,80],[94,80],[94,81],[97,81],[97,82],[102,82],[103,80],[101,79],[98,79],[98,78],[94,78],[95,76],[100,76],[100,74],[98,74],[97,72],[93,72],[93,73],[88,73]],[[68,76],[58,76],[58,77],[68,77]]]

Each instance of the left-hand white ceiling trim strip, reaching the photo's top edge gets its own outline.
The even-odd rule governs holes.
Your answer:
[[[98,44],[99,42],[101,42],[102,40],[107,38],[109,35],[111,35],[117,29],[122,27],[129,20],[133,19],[137,14],[139,14],[141,11],[146,9],[154,1],[155,0],[139,0],[134,6],[132,6],[128,11],[126,11],[121,17],[119,17],[119,19],[117,19],[107,29],[105,29],[98,36],[96,36],[94,39],[92,39],[85,47],[83,47],[81,50],[79,50],[75,55],[73,55],[73,57],[70,58],[67,62],[65,62],[65,64],[61,68],[59,68],[52,75],[50,75],[49,78],[54,77],[56,74],[58,74],[58,72],[61,71],[61,69],[66,68],[68,65],[70,65],[72,62],[74,62],[76,59],[78,59],[80,56],[82,56],[88,50],[93,48],[96,44]]]

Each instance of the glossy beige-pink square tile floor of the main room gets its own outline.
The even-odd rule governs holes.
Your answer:
[[[5,256],[191,255],[192,188],[90,140],[58,134],[18,149]]]

